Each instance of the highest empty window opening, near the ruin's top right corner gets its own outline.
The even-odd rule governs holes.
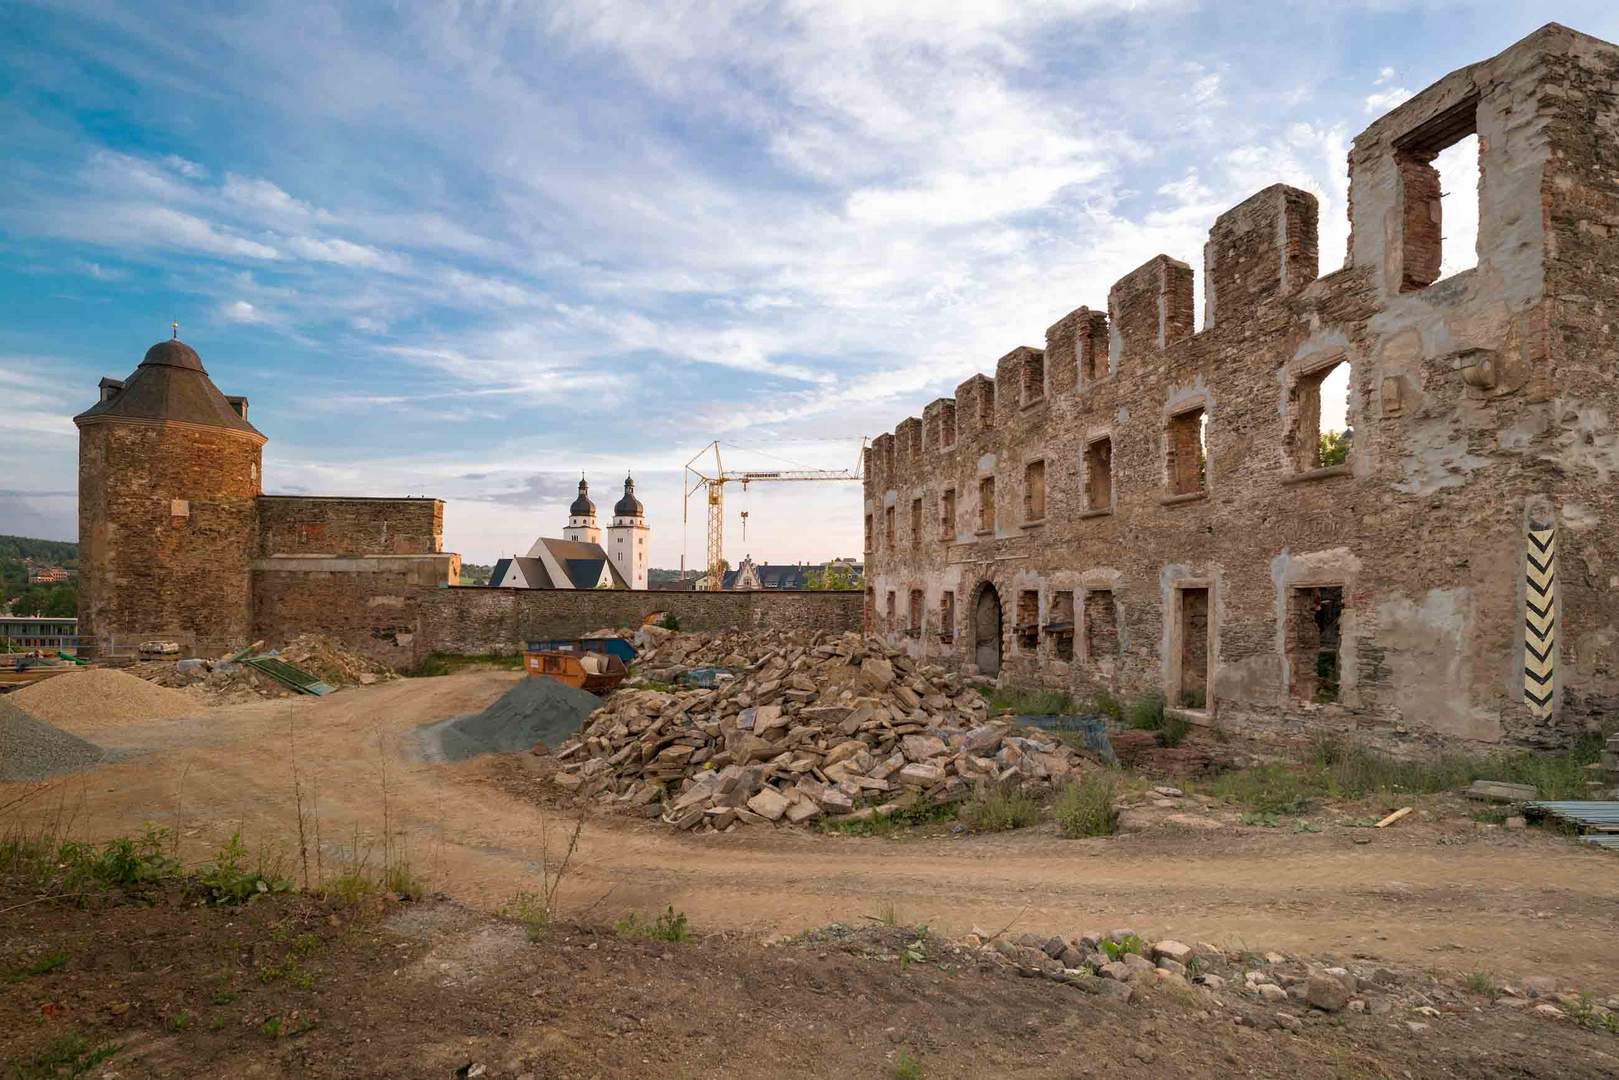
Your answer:
[[[1478,264],[1478,100],[1400,138],[1394,164],[1404,201],[1400,288],[1426,288]]]

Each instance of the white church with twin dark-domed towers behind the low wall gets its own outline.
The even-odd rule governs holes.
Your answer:
[[[644,589],[651,533],[646,508],[635,497],[635,479],[625,476],[623,497],[614,504],[602,544],[596,504],[581,476],[562,539],[541,536],[526,555],[500,559],[489,585],[505,589]]]

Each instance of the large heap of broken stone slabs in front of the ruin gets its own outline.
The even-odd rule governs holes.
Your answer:
[[[677,829],[858,819],[989,789],[1039,789],[1081,759],[992,721],[984,698],[858,633],[669,638],[659,659],[737,667],[712,690],[623,690],[555,750],[552,782]],[[640,661],[638,661],[640,664]]]

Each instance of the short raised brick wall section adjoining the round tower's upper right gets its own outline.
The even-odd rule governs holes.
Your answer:
[[[439,499],[262,495],[261,555],[426,555],[444,551]]]

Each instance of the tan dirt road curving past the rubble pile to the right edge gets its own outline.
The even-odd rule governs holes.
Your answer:
[[[324,699],[206,709],[198,717],[74,730],[138,756],[70,777],[24,816],[70,814],[89,836],[178,826],[204,858],[238,829],[249,848],[298,850],[293,771],[322,861],[358,842],[376,860],[384,821],[429,886],[497,908],[534,889],[546,814],[500,790],[487,761],[426,764],[416,729],[476,711],[516,678],[468,672],[345,690]],[[19,785],[0,785],[0,803]],[[567,823],[549,821],[560,847]],[[670,834],[596,818],[575,908],[674,904],[704,929],[793,931],[892,904],[944,931],[1132,926],[1183,939],[1308,954],[1366,954],[1501,975],[1553,970],[1619,991],[1619,860],[1553,836],[1410,827],[1158,831],[1106,840],[1049,832],[879,840],[737,831]],[[311,855],[311,861],[314,855]]]

